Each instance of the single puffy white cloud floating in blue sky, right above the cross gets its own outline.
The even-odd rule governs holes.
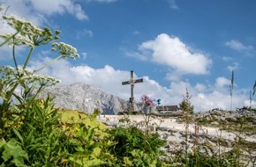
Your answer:
[[[180,74],[207,74],[212,61],[200,52],[194,52],[177,37],[162,33],[154,40],[139,45],[139,51],[152,62],[165,65]]]

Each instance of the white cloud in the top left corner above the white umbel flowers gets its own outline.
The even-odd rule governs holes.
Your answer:
[[[45,15],[52,16],[53,14],[69,13],[79,20],[87,20],[88,16],[83,11],[80,4],[75,4],[72,0],[0,0],[0,3],[7,8],[10,6],[7,14],[25,18],[34,23],[34,25],[42,25],[48,22]]]

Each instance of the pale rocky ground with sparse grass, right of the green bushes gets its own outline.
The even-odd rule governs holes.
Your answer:
[[[108,126],[137,126],[146,130],[145,115],[100,115],[98,120]],[[197,113],[185,123],[184,117],[150,116],[148,129],[167,141],[162,148],[169,156],[177,150],[200,148],[208,156],[221,155],[240,149],[243,161],[256,165],[256,113],[250,111],[226,112],[213,110]],[[247,128],[248,127],[248,128]],[[253,162],[254,161],[254,162]],[[252,164],[253,163],[253,164]]]

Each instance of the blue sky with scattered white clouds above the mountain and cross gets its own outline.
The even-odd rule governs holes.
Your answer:
[[[42,71],[62,84],[85,83],[120,98],[130,77],[135,100],[143,94],[178,105],[186,88],[197,112],[230,109],[230,77],[235,71],[233,107],[250,105],[256,71],[256,1],[254,0],[0,0],[7,14],[40,27],[60,30],[61,40],[76,47],[80,58],[62,60]],[[8,32],[2,26],[0,33]],[[31,69],[54,56],[36,50]],[[8,54],[2,47],[0,53]],[[26,48],[19,49],[26,54]],[[22,56],[19,57],[20,63]],[[0,56],[10,64],[11,56]],[[252,106],[256,107],[255,97]]]

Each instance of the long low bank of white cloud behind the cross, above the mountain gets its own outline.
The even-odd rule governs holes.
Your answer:
[[[29,69],[38,69],[41,63],[49,62],[52,59],[44,57],[31,63]],[[91,84],[102,89],[107,93],[117,97],[129,99],[131,86],[122,85],[123,81],[130,78],[130,71],[114,69],[110,65],[105,65],[100,69],[94,69],[87,65],[73,66],[66,60],[58,61],[50,65],[47,69],[41,71],[50,76],[62,80],[61,84],[84,83]],[[149,76],[137,76],[134,78],[143,78],[143,83],[135,84],[134,98],[139,101],[143,94],[154,99],[162,99],[162,105],[178,105],[184,98],[186,88],[192,95],[191,102],[196,112],[204,112],[215,107],[230,109],[230,92],[228,84],[230,80],[225,77],[216,78],[215,84],[196,84],[191,85],[184,81],[172,81],[169,87],[164,87],[157,81],[150,79]],[[242,107],[248,104],[247,91],[234,90],[233,106]],[[252,101],[252,106],[256,103]]]

